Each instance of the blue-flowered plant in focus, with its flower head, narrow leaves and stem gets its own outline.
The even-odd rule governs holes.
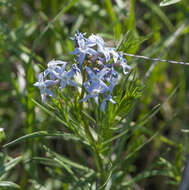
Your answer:
[[[123,52],[108,47],[103,38],[94,34],[87,38],[85,33],[76,32],[72,40],[75,41],[75,49],[70,53],[74,56],[73,63],[50,61],[34,86],[39,88],[45,105],[49,105],[47,96],[52,98],[53,114],[63,120],[71,139],[80,139],[88,147],[94,161],[93,180],[88,184],[103,188],[110,177],[118,180],[125,176],[113,175],[118,169],[115,166],[121,166],[117,143],[123,137],[121,141],[125,141],[124,134],[130,131],[126,123],[131,121],[126,115],[132,112],[141,86],[131,74]]]

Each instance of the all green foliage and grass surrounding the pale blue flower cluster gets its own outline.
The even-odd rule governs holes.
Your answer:
[[[76,30],[117,51],[188,62],[189,6],[176,2],[0,2],[2,189],[178,188],[188,153],[187,66],[126,57],[133,69],[104,112],[93,100],[81,106],[72,87],[43,103],[33,86],[53,58],[74,61]]]

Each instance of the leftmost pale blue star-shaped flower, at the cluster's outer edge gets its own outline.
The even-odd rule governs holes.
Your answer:
[[[44,81],[43,73],[39,73],[38,82],[34,83],[34,86],[37,86],[39,88],[43,102],[45,101],[47,95],[54,98],[54,94],[47,87],[49,87],[51,85],[55,85],[57,83],[58,83],[57,80],[56,81],[54,81],[54,80],[45,80]]]

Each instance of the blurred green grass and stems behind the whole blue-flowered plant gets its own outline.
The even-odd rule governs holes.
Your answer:
[[[53,58],[69,60],[69,52],[74,49],[70,37],[77,29],[100,34],[109,44],[120,44],[126,53],[189,62],[187,0],[166,7],[160,7],[159,3],[155,0],[0,1],[2,189],[17,185],[21,190],[79,189],[79,185],[68,185],[72,176],[69,168],[62,170],[58,163],[51,162],[55,152],[74,163],[94,168],[90,152],[81,148],[81,144],[37,133],[65,129],[33,101],[40,102],[40,94],[33,87],[37,73]],[[127,60],[134,68],[136,84],[143,85],[132,123],[146,119],[124,142],[122,150],[126,151],[122,156],[158,134],[133,153],[125,166],[125,188],[177,189],[189,146],[189,66],[131,57]],[[14,141],[33,133],[34,138]],[[10,146],[3,148],[11,141]],[[69,165],[69,160],[63,163]],[[79,165],[74,167],[79,170]]]

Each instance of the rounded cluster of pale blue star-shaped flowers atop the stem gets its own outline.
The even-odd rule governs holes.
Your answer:
[[[78,85],[73,79],[77,73],[80,73],[83,78],[87,75],[82,84],[86,96],[82,97],[80,102],[94,98],[96,104],[99,104],[99,97],[102,97],[101,111],[105,110],[108,101],[116,103],[112,99],[113,89],[118,83],[115,65],[120,65],[124,74],[127,74],[131,67],[127,65],[123,53],[107,47],[100,36],[92,34],[86,38],[85,35],[76,32],[72,38],[75,40],[75,49],[71,54],[75,55],[76,59],[71,69],[66,71],[67,62],[52,60],[47,64],[47,69],[39,74],[38,82],[34,86],[40,89],[42,101],[46,100],[47,95],[54,98],[50,86],[59,85],[59,88],[63,89],[66,85],[70,85],[77,88]]]

